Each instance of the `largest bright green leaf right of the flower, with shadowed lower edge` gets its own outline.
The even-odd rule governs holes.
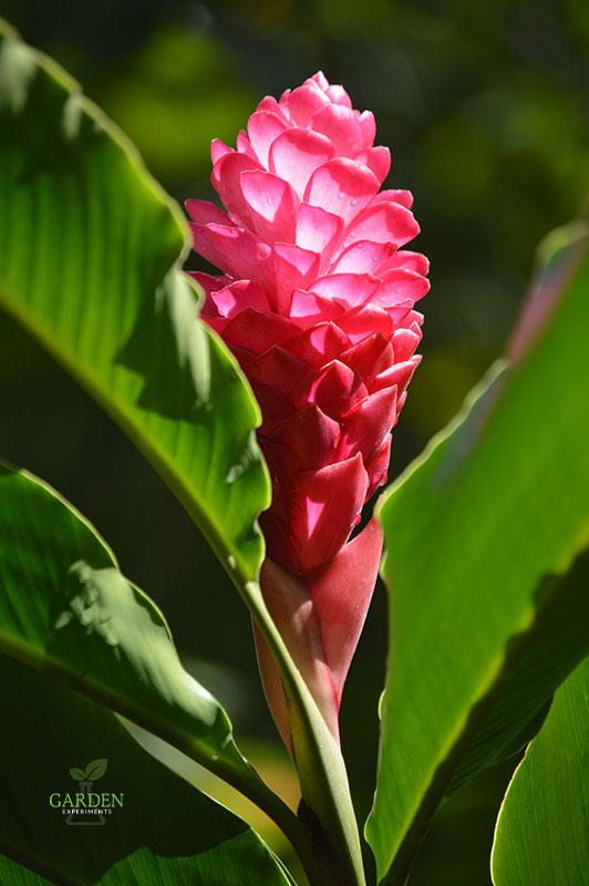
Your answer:
[[[561,580],[589,542],[589,260],[566,236],[512,364],[379,508],[392,642],[366,835],[386,884],[405,883],[461,761],[464,780],[523,743],[555,689],[544,664],[562,680],[588,649],[588,607]]]

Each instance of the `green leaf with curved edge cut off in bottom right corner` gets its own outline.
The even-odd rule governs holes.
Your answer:
[[[589,660],[585,660],[557,691],[505,796],[492,856],[496,886],[585,886],[588,749]]]

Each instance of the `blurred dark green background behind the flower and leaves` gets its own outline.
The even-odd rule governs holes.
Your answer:
[[[388,184],[414,193],[415,248],[432,261],[424,361],[395,431],[391,477],[500,353],[538,240],[585,208],[585,0],[0,0],[0,14],[80,80],[180,202],[213,197],[210,140],[235,144],[262,95],[321,69],[355,107],[374,112],[376,142],[392,148]],[[0,398],[0,454],[93,521],[125,574],[163,607],[187,667],[225,703],[255,762],[292,792],[249,618],[225,574],[122,433],[3,316]],[[379,587],[342,707],[362,821],[385,607]],[[512,769],[480,776],[444,808],[411,886],[489,886],[493,823]]]

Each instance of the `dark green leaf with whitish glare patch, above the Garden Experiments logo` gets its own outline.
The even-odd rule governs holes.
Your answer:
[[[240,755],[219,703],[182,667],[156,606],[121,575],[105,543],[71,506],[6,466],[0,649],[174,744],[278,816],[296,839],[288,827],[294,816]],[[104,775],[106,760],[90,760],[85,770],[75,767],[79,781]]]

